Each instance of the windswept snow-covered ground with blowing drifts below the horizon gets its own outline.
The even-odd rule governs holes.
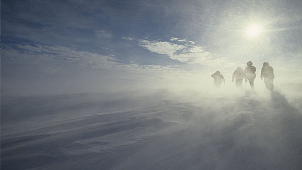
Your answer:
[[[1,99],[1,170],[301,170],[302,98],[168,90]]]

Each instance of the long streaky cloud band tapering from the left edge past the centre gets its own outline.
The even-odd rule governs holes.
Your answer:
[[[61,46],[14,44],[3,47],[3,55],[6,56],[1,59],[3,63],[43,66],[51,70],[50,73],[68,66],[132,72],[181,71],[177,66],[139,65],[134,64],[134,61],[132,64],[122,64],[110,54],[107,56]]]

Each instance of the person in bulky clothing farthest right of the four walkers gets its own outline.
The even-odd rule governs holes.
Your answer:
[[[261,80],[264,78],[264,84],[268,90],[273,91],[274,89],[274,68],[268,65],[267,62],[263,63],[263,67],[261,68]]]

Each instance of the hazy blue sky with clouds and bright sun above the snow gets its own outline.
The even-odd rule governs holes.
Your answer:
[[[302,83],[301,16],[301,0],[1,0],[1,92],[202,88],[248,61]]]

